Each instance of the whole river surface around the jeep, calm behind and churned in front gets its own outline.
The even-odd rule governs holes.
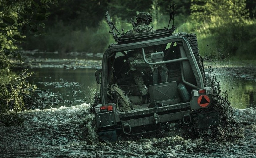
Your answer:
[[[157,137],[99,142],[89,103],[100,89],[94,79],[100,61],[90,57],[30,60],[30,71],[35,72],[30,81],[51,92],[53,98],[62,95],[65,102],[54,104],[53,100],[49,107],[40,109],[38,105],[38,109],[20,112],[24,126],[0,127],[0,157],[256,157],[254,74],[249,78],[246,73],[227,75],[230,66],[210,69],[206,63],[206,70],[216,76],[224,92],[216,96],[226,121],[216,130],[200,133],[197,139],[167,132]]]

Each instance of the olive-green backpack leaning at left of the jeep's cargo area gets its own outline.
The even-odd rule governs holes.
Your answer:
[[[131,111],[133,109],[128,95],[126,95],[117,84],[108,85],[107,89],[109,99],[111,102],[116,103],[116,107],[119,111]]]

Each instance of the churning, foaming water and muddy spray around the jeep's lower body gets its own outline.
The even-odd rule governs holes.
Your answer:
[[[211,69],[212,71],[212,69]],[[180,135],[99,142],[91,105],[20,112],[22,127],[0,127],[0,157],[255,157],[256,109],[234,109],[212,75],[221,125],[191,140]]]

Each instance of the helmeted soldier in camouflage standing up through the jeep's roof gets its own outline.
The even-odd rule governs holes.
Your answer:
[[[148,24],[152,21],[152,17],[147,12],[140,12],[137,16],[137,26],[135,26],[133,29],[128,30],[123,36],[131,36],[131,35],[140,35],[144,33],[150,33],[155,32],[156,30],[153,29],[152,26],[148,26]],[[149,62],[152,62],[150,54],[153,53],[154,47],[148,47],[145,48],[145,55],[146,58],[149,59]],[[138,90],[141,93],[142,96],[145,96],[148,94],[148,89],[144,84],[142,73],[146,70],[143,69],[136,69],[136,63],[144,63],[143,56],[142,56],[142,49],[134,49],[134,52],[132,53],[133,57],[130,57],[128,59],[128,62],[132,62],[130,64],[130,69],[133,71],[134,80],[137,84]],[[151,61],[150,61],[151,60]],[[145,68],[146,69],[146,68]]]

